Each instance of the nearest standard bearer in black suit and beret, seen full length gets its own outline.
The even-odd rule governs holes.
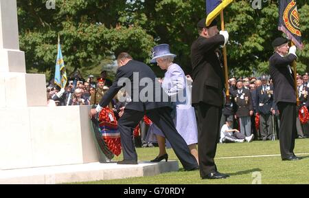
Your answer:
[[[193,67],[192,105],[198,120],[198,160],[202,179],[220,179],[214,157],[220,138],[225,76],[218,57],[218,47],[229,39],[226,31],[218,31],[214,20],[208,27],[205,19],[198,22],[198,39],[191,46]]]

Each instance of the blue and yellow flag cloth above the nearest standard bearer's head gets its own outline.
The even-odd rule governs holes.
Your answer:
[[[233,0],[206,0],[206,26],[209,26],[220,12],[229,5]]]

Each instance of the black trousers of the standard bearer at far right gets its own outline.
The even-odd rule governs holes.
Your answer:
[[[280,127],[279,142],[281,157],[293,156],[296,135],[296,103],[277,102]]]

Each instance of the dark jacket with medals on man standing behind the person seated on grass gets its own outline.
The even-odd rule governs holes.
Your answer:
[[[253,111],[253,106],[249,89],[242,88],[241,94],[238,94],[238,90],[236,90],[233,92],[233,97],[236,105],[237,117],[250,116],[250,111]]]

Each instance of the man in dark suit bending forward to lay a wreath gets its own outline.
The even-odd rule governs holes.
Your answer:
[[[99,113],[102,107],[106,107],[122,87],[131,97],[131,102],[126,104],[124,114],[118,121],[124,160],[117,164],[137,164],[137,153],[133,144],[133,129],[146,114],[164,133],[176,156],[183,164],[183,168],[185,170],[198,169],[196,159],[191,155],[183,137],[176,131],[170,115],[171,104],[168,102],[168,96],[164,95],[165,92],[162,90],[155,73],[148,65],[134,61],[126,52],[119,54],[117,63],[119,68],[113,85],[106,91],[98,107],[91,109],[90,112],[91,116]]]

